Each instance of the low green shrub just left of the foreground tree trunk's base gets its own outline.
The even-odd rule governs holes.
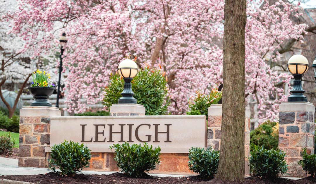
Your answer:
[[[210,178],[216,175],[219,161],[218,150],[212,148],[191,148],[189,150],[189,169],[202,177]]]

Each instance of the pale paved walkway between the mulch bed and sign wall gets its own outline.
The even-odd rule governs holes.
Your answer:
[[[51,172],[46,168],[18,167],[18,159],[0,157],[0,175],[39,175]],[[110,171],[82,171],[86,175],[109,175]],[[153,176],[183,177],[187,175],[149,174]]]

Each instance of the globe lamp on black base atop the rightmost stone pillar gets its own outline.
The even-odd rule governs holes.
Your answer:
[[[301,78],[308,69],[308,60],[304,56],[297,54],[292,56],[288,61],[288,69],[294,76],[294,86],[291,90],[291,95],[288,101],[306,101],[307,97],[304,96],[304,89],[302,88]]]

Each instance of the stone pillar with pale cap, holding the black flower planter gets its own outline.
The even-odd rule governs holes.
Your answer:
[[[50,145],[50,117],[61,116],[57,107],[23,107],[20,110],[19,166],[46,167]]]

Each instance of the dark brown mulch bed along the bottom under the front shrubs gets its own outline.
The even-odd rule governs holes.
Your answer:
[[[190,177],[154,177],[147,175],[145,178],[130,178],[127,175],[122,173],[113,173],[111,175],[84,175],[77,174],[73,177],[66,176],[62,177],[55,173],[48,173],[45,175],[7,175],[0,176],[0,179],[8,179],[15,181],[27,181],[33,183],[139,183],[139,184],[147,184],[147,183],[220,183],[220,184],[234,184],[233,182],[223,182],[216,181],[215,179],[211,180],[203,180],[199,176],[190,176]],[[307,183],[316,183],[315,178],[303,178],[300,180],[290,180],[286,178],[277,178],[275,180],[261,180],[258,177],[251,176],[245,178],[244,184],[307,184]]]

